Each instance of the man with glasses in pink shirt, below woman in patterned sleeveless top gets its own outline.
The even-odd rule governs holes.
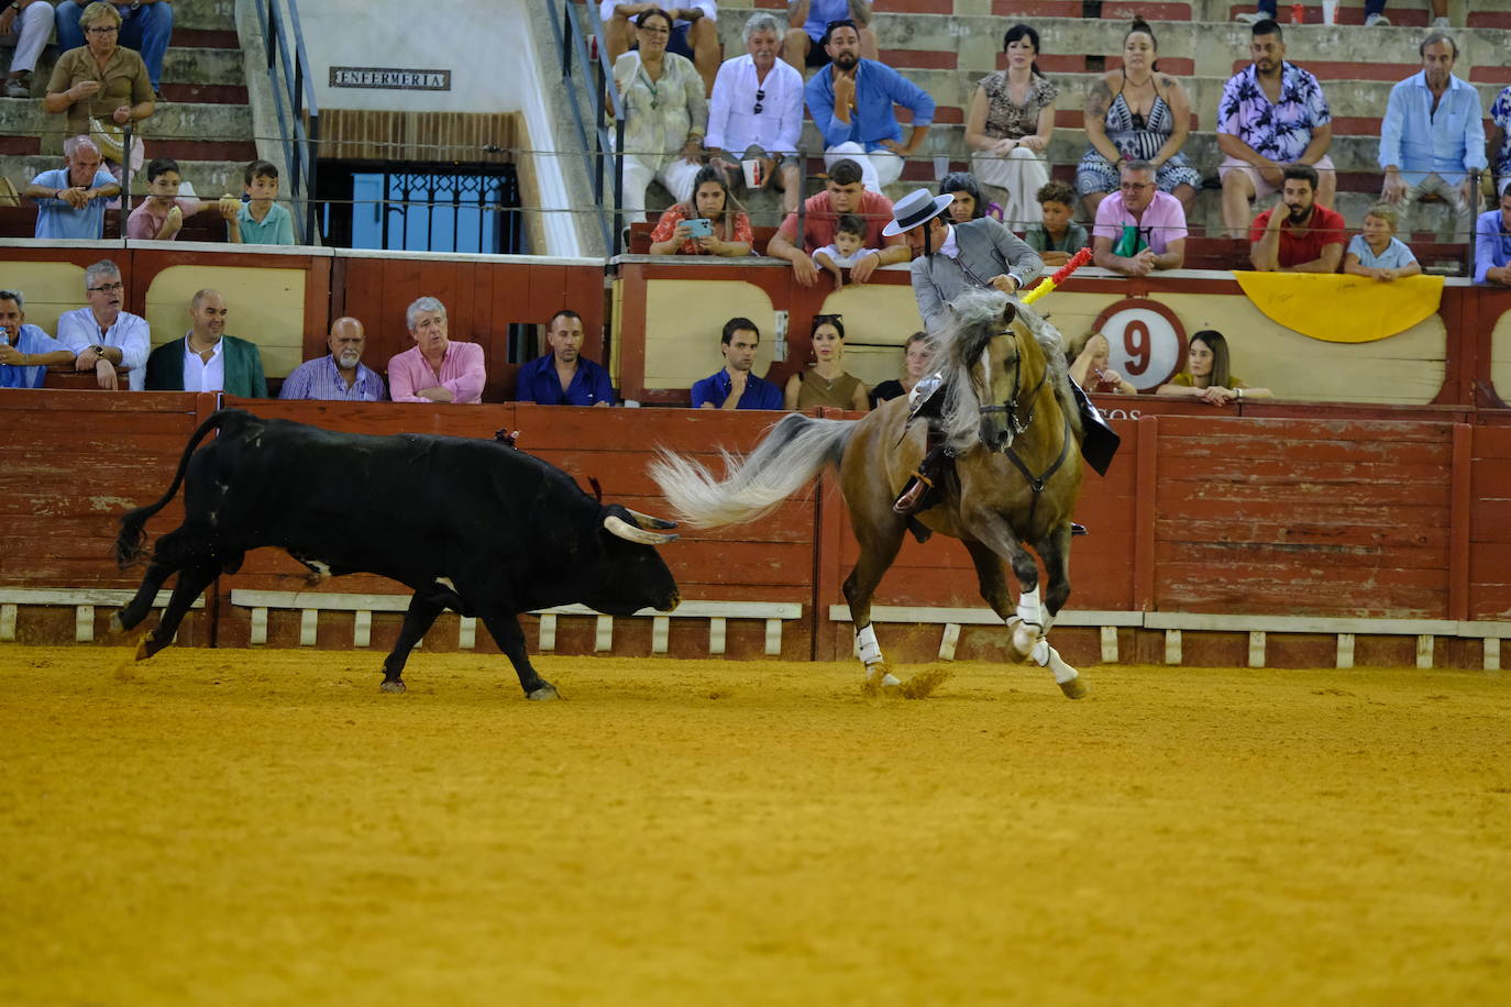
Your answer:
[[[1154,187],[1148,162],[1123,165],[1118,192],[1097,205],[1091,261],[1124,276],[1180,269],[1186,261],[1186,211]]]

